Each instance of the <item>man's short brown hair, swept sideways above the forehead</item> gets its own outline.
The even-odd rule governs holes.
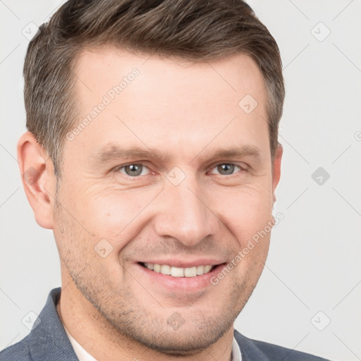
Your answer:
[[[69,0],[39,27],[24,65],[26,126],[60,177],[63,142],[77,119],[75,62],[82,49],[115,45],[140,54],[212,61],[236,53],[259,66],[267,88],[271,156],[284,99],[279,47],[241,0]]]

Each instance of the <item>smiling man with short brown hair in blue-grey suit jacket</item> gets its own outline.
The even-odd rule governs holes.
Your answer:
[[[68,1],[40,27],[18,159],[62,287],[1,360],[322,360],[233,329],[276,223],[281,69],[240,0]]]

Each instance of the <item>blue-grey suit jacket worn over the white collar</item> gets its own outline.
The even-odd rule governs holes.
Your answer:
[[[61,288],[49,293],[47,304],[39,314],[40,323],[22,341],[0,353],[0,361],[78,361],[71,342],[56,312]],[[255,341],[234,331],[242,361],[326,361],[321,357]]]

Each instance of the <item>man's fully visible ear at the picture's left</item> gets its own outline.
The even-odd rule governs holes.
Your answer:
[[[56,190],[54,165],[32,133],[24,133],[18,141],[18,163],[27,200],[37,224],[53,228]]]

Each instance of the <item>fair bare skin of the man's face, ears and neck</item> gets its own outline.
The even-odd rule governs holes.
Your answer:
[[[22,173],[38,172],[34,183],[24,182],[27,199],[59,250],[58,311],[97,360],[230,360],[233,322],[262,273],[269,235],[216,286],[167,286],[137,262],[228,263],[271,221],[282,149],[272,173],[262,75],[243,54],[185,64],[105,47],[84,51],[75,126],[133,68],[139,75],[64,143],[57,194],[44,149],[30,133],[18,143]],[[250,114],[238,106],[246,94],[258,103]],[[109,145],[157,157],[99,161]],[[212,156],[240,147],[258,154]],[[129,176],[120,169],[127,164],[147,168]],[[233,173],[222,175],[221,164],[235,164]],[[174,185],[167,175],[184,179]],[[104,239],[113,247],[105,258],[94,250]],[[184,320],[178,329],[167,323],[175,312]]]

